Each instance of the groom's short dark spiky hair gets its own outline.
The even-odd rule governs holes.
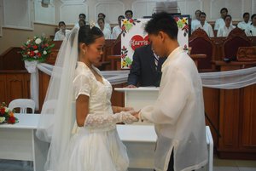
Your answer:
[[[177,23],[171,14],[161,12],[153,14],[153,18],[148,21],[145,31],[148,34],[157,35],[159,31],[165,32],[170,38],[177,40]]]

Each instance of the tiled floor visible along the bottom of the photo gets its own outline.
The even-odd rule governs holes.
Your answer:
[[[32,171],[31,162],[0,160],[0,171]],[[129,168],[129,171],[152,171],[151,169]],[[198,170],[199,171],[199,170]],[[200,169],[205,171],[205,169]],[[221,160],[214,157],[213,171],[256,171],[256,161]]]

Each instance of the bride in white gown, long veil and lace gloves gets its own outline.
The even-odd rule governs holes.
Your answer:
[[[94,66],[104,43],[100,29],[81,26],[61,45],[37,130],[40,140],[50,142],[45,170],[125,171],[129,166],[115,124],[137,118],[132,108],[111,105],[112,86]]]

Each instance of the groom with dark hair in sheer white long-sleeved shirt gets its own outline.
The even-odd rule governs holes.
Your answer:
[[[155,54],[168,56],[162,66],[158,99],[135,114],[155,125],[154,169],[201,168],[207,164],[201,77],[194,61],[177,43],[177,23],[170,14],[154,14],[145,31]]]

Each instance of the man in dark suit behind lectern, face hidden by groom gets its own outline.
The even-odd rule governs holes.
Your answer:
[[[128,77],[128,88],[156,86],[160,84],[161,67],[166,58],[159,58],[151,45],[136,48]]]

